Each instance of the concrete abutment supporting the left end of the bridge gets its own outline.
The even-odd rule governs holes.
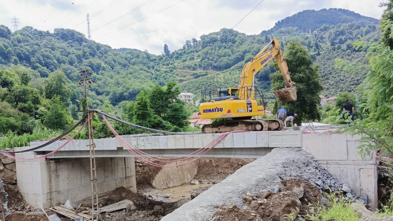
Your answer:
[[[18,148],[19,150],[20,148]],[[17,157],[38,157],[34,152],[19,153]],[[136,192],[134,157],[96,158],[99,194],[125,187]],[[48,208],[91,197],[90,159],[59,158],[32,162],[16,161],[17,184],[27,203]]]

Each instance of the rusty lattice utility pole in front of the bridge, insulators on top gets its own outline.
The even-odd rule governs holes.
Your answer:
[[[79,76],[82,77],[78,81],[80,86],[83,86],[83,99],[81,102],[83,112],[87,113],[87,120],[89,126],[89,149],[90,149],[90,175],[92,184],[92,221],[98,221],[98,191],[97,191],[97,168],[95,166],[95,144],[94,144],[94,133],[93,133],[93,123],[92,116],[94,111],[89,110],[87,106],[87,87],[94,83],[92,79],[92,72],[88,70],[82,70],[79,72]]]

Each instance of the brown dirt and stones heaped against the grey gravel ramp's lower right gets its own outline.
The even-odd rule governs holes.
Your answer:
[[[235,205],[224,206],[216,212],[217,221],[282,221],[287,214],[305,215],[310,204],[317,204],[320,199],[318,189],[308,181],[295,178],[285,180],[277,192],[248,193],[244,196],[246,209]],[[290,220],[290,219],[287,219]]]

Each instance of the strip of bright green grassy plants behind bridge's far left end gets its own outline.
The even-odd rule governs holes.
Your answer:
[[[26,147],[32,141],[56,137],[60,134],[60,131],[51,131],[47,129],[39,129],[34,131],[33,134],[23,134],[20,136],[10,132],[6,134],[6,136],[0,138],[0,149]]]

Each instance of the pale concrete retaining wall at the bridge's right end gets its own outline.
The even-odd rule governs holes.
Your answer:
[[[370,208],[378,206],[378,172],[374,152],[365,158],[358,155],[360,136],[350,134],[303,134],[302,149],[311,153],[318,164],[340,182],[345,182],[356,195],[367,194]]]

